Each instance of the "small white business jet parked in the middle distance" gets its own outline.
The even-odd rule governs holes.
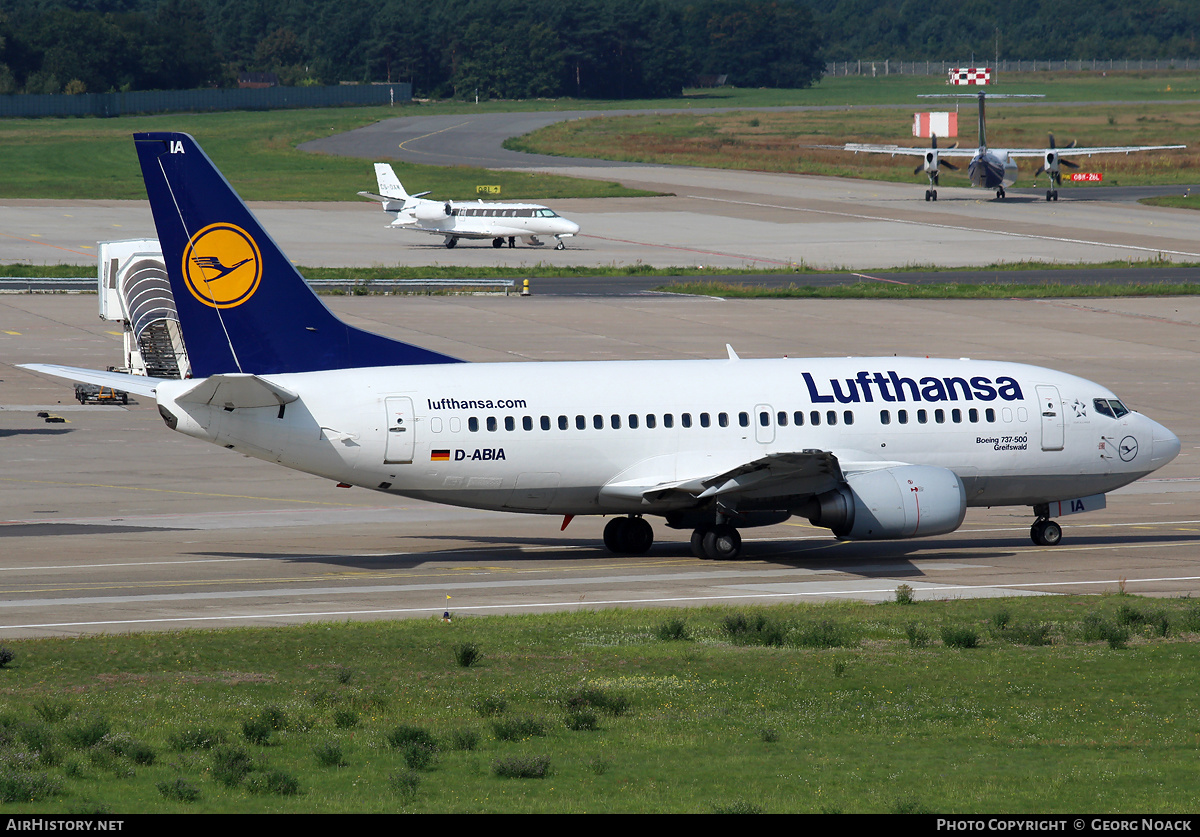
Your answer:
[[[383,211],[394,216],[389,227],[440,235],[445,239],[446,247],[457,245],[458,239],[491,239],[492,247],[503,247],[508,241],[509,247],[516,247],[517,237],[524,239],[527,245],[540,247],[542,242],[538,239],[539,235],[553,235],[558,241],[554,249],[565,249],[563,239],[580,231],[577,223],[539,204],[425,200],[424,195],[428,192],[406,192],[388,163],[376,163],[376,181],[379,183],[379,194],[359,194],[383,204]]]

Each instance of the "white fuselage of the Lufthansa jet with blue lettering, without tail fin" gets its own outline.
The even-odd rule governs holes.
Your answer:
[[[1092,381],[990,361],[898,357],[450,363],[265,377],[283,409],[224,409],[158,386],[176,429],[338,482],[556,514],[664,513],[612,490],[707,477],[769,453],[829,451],[846,474],[954,471],[971,506],[1127,484],[1174,434]],[[606,488],[610,487],[610,488]]]

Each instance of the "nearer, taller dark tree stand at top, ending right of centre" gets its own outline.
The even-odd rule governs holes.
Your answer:
[[[799,0],[10,0],[0,94],[412,82],[416,96],[678,96],[821,77]]]

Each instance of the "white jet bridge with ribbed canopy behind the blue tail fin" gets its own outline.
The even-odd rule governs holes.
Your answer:
[[[97,277],[100,318],[121,323],[125,335],[116,371],[188,378],[191,365],[158,241],[101,241]]]

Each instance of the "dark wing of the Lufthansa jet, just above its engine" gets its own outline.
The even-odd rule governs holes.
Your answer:
[[[768,453],[758,459],[721,471],[684,480],[636,478],[608,483],[601,496],[641,500],[654,505],[692,505],[697,501],[739,496],[811,496],[836,488],[845,481],[838,457],[829,451]]]

